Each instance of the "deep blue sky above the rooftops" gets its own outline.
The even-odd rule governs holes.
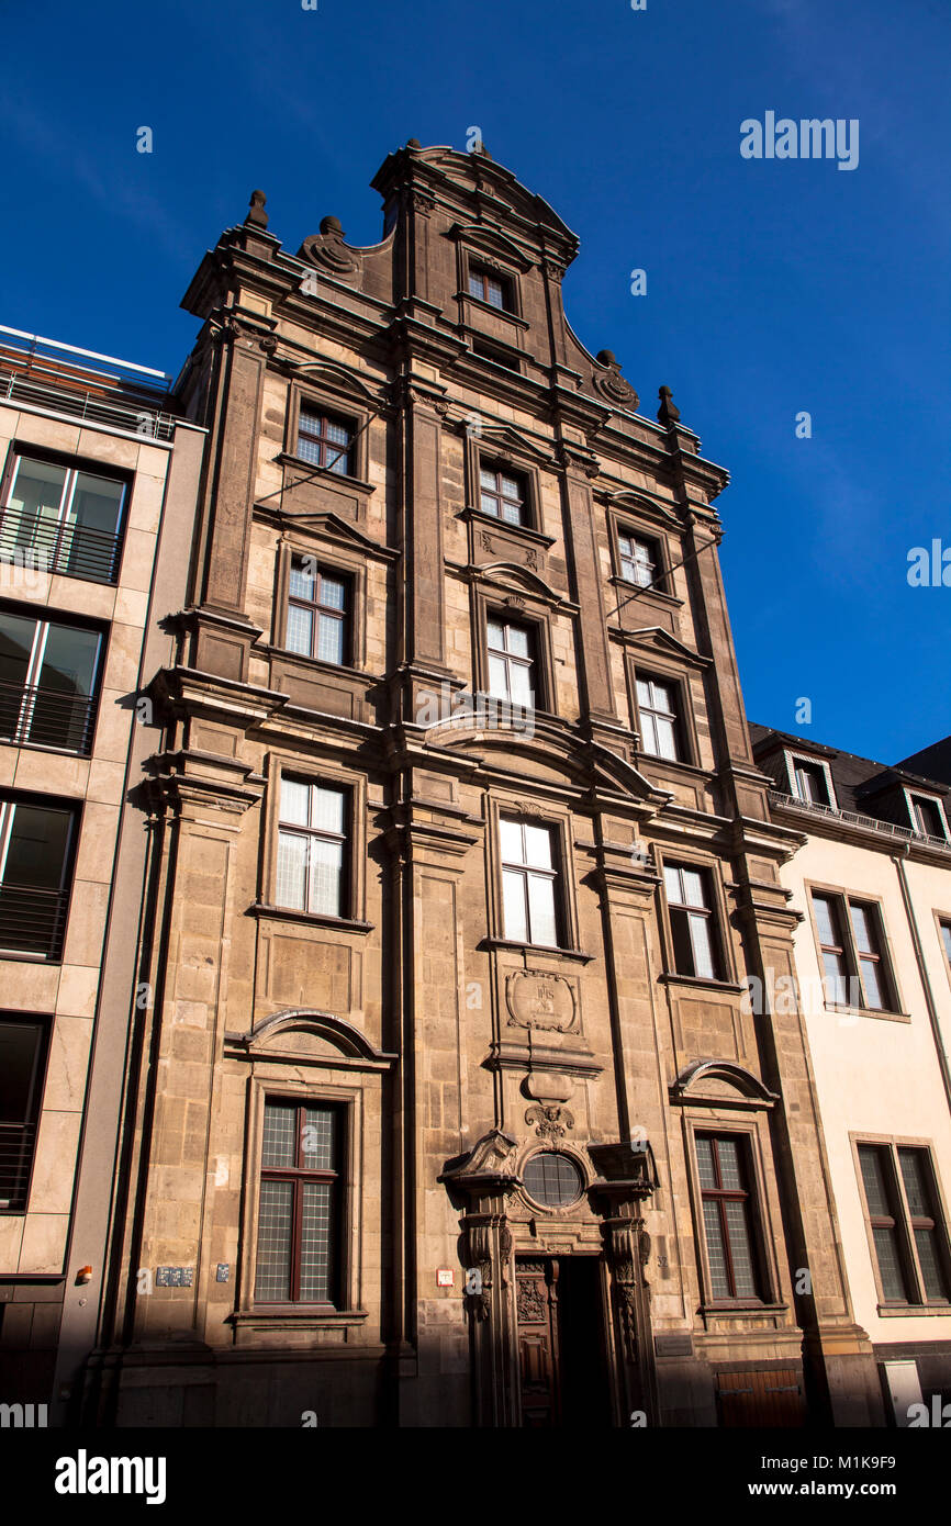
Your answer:
[[[583,343],[615,351],[650,417],[670,385],[731,472],[750,716],[884,761],[951,732],[951,588],[907,581],[910,548],[951,546],[946,0],[0,17],[2,322],[176,372],[197,328],[180,298],[255,186],[290,250],[328,212],[376,243],[385,156],[463,150],[478,125],[582,240],[565,302]],[[769,110],[856,118],[858,168],[742,159],[740,122]]]

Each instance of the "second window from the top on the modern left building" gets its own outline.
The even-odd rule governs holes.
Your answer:
[[[92,748],[102,636],[0,609],[0,740]]]

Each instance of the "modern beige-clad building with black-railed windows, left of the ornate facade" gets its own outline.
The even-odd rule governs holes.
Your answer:
[[[137,697],[172,650],[205,439],[168,409],[154,371],[0,330],[5,1402],[56,1405],[98,1328],[160,736]]]

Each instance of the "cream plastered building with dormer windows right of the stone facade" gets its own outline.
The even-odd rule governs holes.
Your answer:
[[[898,1424],[951,1386],[948,783],[754,726],[777,823],[837,1253]]]

